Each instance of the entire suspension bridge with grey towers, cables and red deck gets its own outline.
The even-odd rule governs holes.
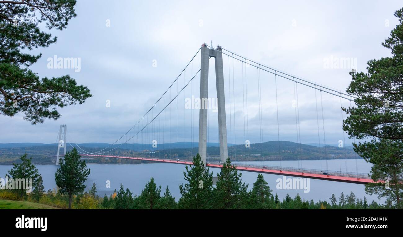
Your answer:
[[[216,97],[210,98],[208,92],[211,58],[214,58]],[[225,69],[228,71],[224,70],[224,58],[228,58],[228,62],[225,62]],[[200,63],[198,64],[197,61]],[[263,77],[262,74],[264,74]],[[239,86],[239,83],[242,83],[242,86]],[[284,88],[290,84],[293,90],[285,90]],[[316,111],[316,114],[313,119],[310,118],[310,123],[303,124],[307,128],[303,133],[311,135],[312,131],[316,130],[319,145],[315,149],[320,159],[320,169],[308,168],[304,164],[308,148],[301,143],[302,119],[300,119],[301,101],[298,98],[298,85],[314,92],[313,111]],[[281,109],[284,106],[281,105],[283,101],[279,99],[279,91],[289,93],[293,98],[291,110],[295,114],[295,151],[290,151],[281,139],[284,132],[283,136],[291,140],[291,137],[287,136],[291,126],[289,123],[282,124],[282,121],[289,120],[291,116]],[[196,97],[197,92],[199,97]],[[347,152],[345,132],[341,126],[340,134],[343,134],[343,139],[339,142],[344,146],[335,148],[326,143],[328,133],[325,131],[324,94],[330,96],[332,104],[334,104],[334,98],[339,99],[340,110],[343,107],[342,100],[351,107],[355,99],[354,96],[343,91],[279,71],[221,46],[213,48],[212,45],[203,44],[151,108],[135,121],[128,131],[105,148],[84,150],[73,139],[69,138],[70,140],[67,141],[66,125],[60,125],[56,164],[59,164],[59,157],[66,154],[68,143],[77,148],[81,156],[192,165],[192,157],[200,154],[205,166],[212,168],[221,168],[226,158],[230,158],[241,171],[359,184],[374,182],[367,173],[358,172],[357,160],[355,160],[354,172],[351,169],[347,170],[347,164],[345,171],[329,170],[328,160],[334,158],[334,152],[337,152],[338,158],[354,157],[349,154],[351,151]],[[183,101],[181,101],[182,96]],[[251,102],[253,99],[257,103]],[[268,121],[269,119],[265,116],[272,116],[272,120]],[[331,115],[332,118],[334,116],[334,114]],[[341,121],[344,116],[341,110]],[[217,123],[214,123],[215,121]],[[199,128],[198,133],[195,127]],[[218,136],[216,130],[218,130]],[[218,140],[219,149],[211,149],[209,154],[208,141],[215,138]],[[269,139],[276,140],[275,146],[272,146],[273,143],[269,146],[267,142],[264,142]],[[195,143],[198,143],[198,146],[194,146]],[[209,147],[212,148],[212,146]],[[64,148],[64,154],[60,154],[60,148]],[[354,156],[357,158],[356,154]],[[256,164],[256,162],[244,163],[263,161],[267,157],[278,160],[278,166]],[[297,161],[298,167],[284,166],[283,159]],[[243,162],[237,162],[239,160]],[[325,163],[323,167],[322,162]]]

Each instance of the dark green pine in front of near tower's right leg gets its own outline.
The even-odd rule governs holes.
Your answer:
[[[214,207],[219,209],[239,209],[247,205],[247,188],[242,183],[242,174],[238,173],[237,166],[231,165],[227,158],[221,172],[217,174],[218,180],[214,188]]]

